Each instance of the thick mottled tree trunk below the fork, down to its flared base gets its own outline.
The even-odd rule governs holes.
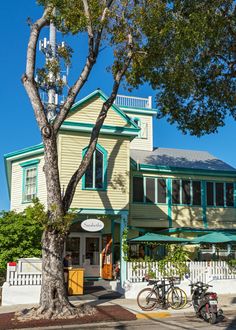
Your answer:
[[[67,227],[60,191],[57,139],[53,132],[43,139],[48,220],[42,236],[42,288],[36,312],[45,318],[66,317],[75,315],[77,309],[68,300],[64,280],[63,251]]]

